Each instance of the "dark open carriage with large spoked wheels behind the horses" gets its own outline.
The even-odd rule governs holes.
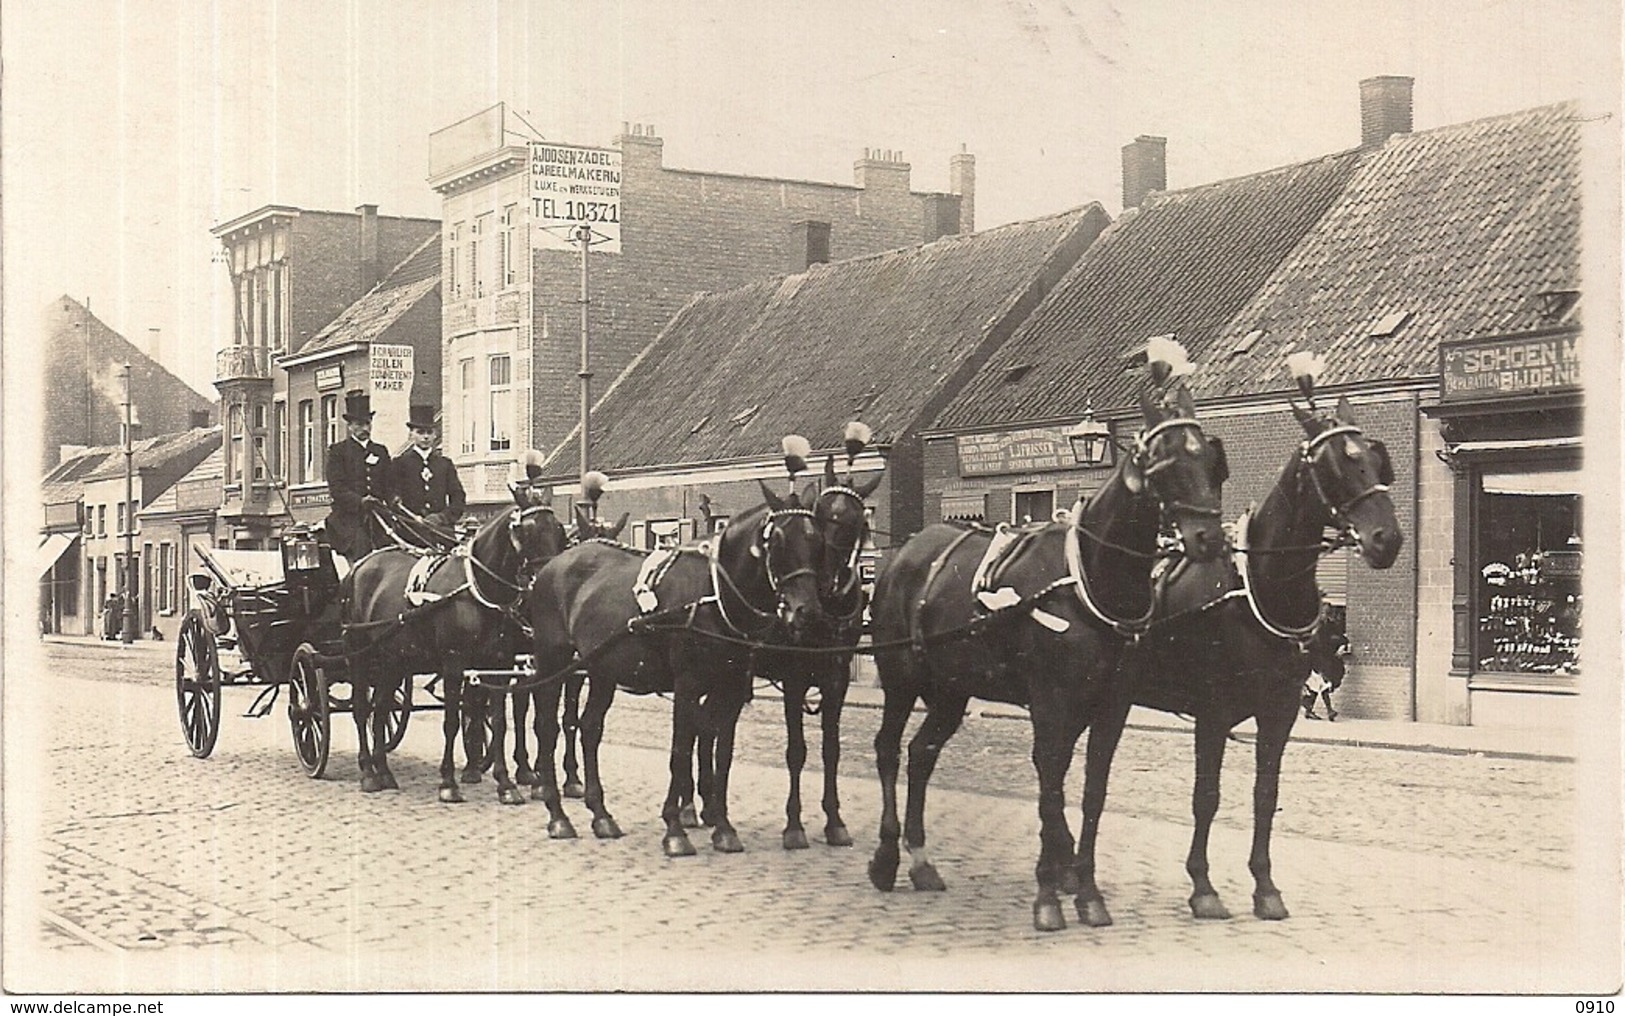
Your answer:
[[[281,551],[198,546],[205,571],[188,577],[192,606],[176,639],[176,706],[192,754],[203,759],[219,736],[224,688],[260,688],[249,717],[266,715],[288,689],[288,723],[299,766],[312,779],[327,771],[332,719],[354,710],[344,650],[340,575],[318,533],[294,528]],[[515,673],[528,673],[528,657]],[[384,706],[390,749],[414,710],[444,709],[437,678],[406,680]],[[418,701],[414,701],[418,699]]]

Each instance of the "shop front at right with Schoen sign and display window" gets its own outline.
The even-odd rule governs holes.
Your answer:
[[[1451,678],[1474,725],[1568,728],[1581,689],[1580,335],[1440,348],[1454,475]]]

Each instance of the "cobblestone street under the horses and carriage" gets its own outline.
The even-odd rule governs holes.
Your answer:
[[[8,762],[39,774],[6,767],[8,888],[39,904],[8,909],[8,988],[1606,987],[1575,966],[1594,943],[1565,762],[1294,745],[1274,850],[1294,917],[1266,923],[1248,907],[1251,759],[1235,745],[1212,858],[1238,917],[1199,925],[1185,905],[1190,738],[1129,732],[1102,836],[1116,925],[1040,935],[1016,720],[968,720],[944,753],[930,832],[949,891],[879,894],[864,878],[873,710],[852,710],[843,736],[856,849],[780,850],[780,707],[759,699],[734,779],[746,853],[697,839],[699,857],[668,862],[660,699],[621,697],[609,719],[627,836],[551,842],[540,805],[499,806],[489,782],[466,805],[436,801],[436,714],[396,756],[400,793],[358,792],[344,723],[338,775],[306,779],[281,709],[240,719],[240,689],[214,756],[192,759],[166,670],[151,652],[54,645],[41,673],[6,675],[13,696],[13,681],[50,686],[8,699],[32,714],[8,714]]]

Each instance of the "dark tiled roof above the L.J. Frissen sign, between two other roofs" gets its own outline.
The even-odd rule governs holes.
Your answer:
[[[1038,310],[947,405],[939,428],[1129,406],[1126,367],[1154,335],[1191,354],[1214,336],[1342,192],[1358,151],[1150,195],[1107,229]]]

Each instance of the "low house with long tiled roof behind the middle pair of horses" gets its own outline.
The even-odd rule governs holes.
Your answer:
[[[856,473],[886,467],[874,527],[892,541],[918,530],[920,428],[1108,221],[1089,205],[696,297],[593,410],[604,510],[632,517],[622,540],[702,535],[760,504],[757,478],[783,489],[785,434],[808,437],[822,468],[853,418],[873,431]],[[549,458],[564,488],[575,437]]]

